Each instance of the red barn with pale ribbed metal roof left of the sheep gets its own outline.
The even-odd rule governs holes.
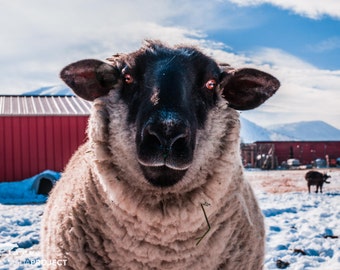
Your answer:
[[[75,96],[0,96],[0,182],[62,171],[86,140],[90,106]]]

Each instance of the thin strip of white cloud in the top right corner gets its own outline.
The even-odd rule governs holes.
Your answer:
[[[330,16],[340,19],[340,3],[338,0],[229,0],[239,6],[256,6],[271,4],[311,19]]]

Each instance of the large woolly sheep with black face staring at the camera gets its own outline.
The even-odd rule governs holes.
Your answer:
[[[238,110],[262,104],[279,81],[159,41],[107,60],[61,71],[93,104],[89,140],[45,209],[44,260],[65,269],[261,269],[264,220],[242,171]]]

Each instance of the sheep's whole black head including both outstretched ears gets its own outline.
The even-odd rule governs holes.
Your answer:
[[[248,110],[280,85],[267,73],[235,70],[195,48],[157,42],[109,61],[73,63],[62,70],[61,78],[90,101],[113,88],[120,92],[128,108],[125,121],[136,127],[136,159],[145,178],[160,187],[172,186],[185,175],[194,158],[197,130],[204,128],[219,98],[229,107]]]

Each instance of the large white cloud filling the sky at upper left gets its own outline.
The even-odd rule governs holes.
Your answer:
[[[169,23],[189,8],[172,1],[19,0],[0,8],[0,91],[6,94],[58,84],[64,65],[135,50],[145,38],[173,44],[204,37]]]

